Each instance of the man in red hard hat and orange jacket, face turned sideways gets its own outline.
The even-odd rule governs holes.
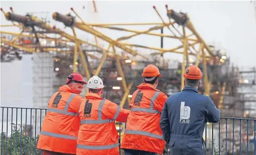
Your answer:
[[[83,101],[79,93],[84,84],[82,75],[72,73],[66,85],[50,98],[37,144],[43,155],[76,154],[80,125],[78,110]]]

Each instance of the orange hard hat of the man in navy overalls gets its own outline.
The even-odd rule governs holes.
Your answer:
[[[201,79],[203,77],[201,69],[196,65],[191,65],[185,70],[183,76],[187,79]]]

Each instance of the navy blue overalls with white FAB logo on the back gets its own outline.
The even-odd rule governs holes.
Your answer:
[[[186,154],[190,148],[197,149],[191,152],[193,155],[203,154],[205,123],[219,121],[219,110],[213,101],[198,93],[196,88],[185,87],[167,99],[165,109],[168,111],[171,151],[174,154]]]

